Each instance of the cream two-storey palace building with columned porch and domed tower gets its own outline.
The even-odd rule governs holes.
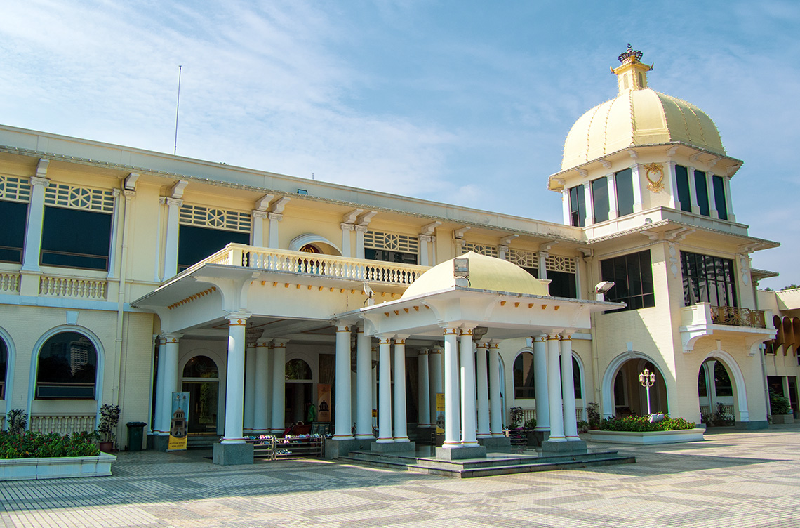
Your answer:
[[[652,410],[766,427],[766,375],[798,375],[750,268],[778,244],[737,222],[714,122],[620,62],[547,182],[562,224],[0,126],[0,402],[62,432],[119,404],[156,447],[176,390],[229,446],[324,402],[349,446],[428,438],[442,393],[451,447],[513,406],[568,442],[589,402],[645,414],[649,368]]]

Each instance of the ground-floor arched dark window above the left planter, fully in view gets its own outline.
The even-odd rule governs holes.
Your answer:
[[[94,398],[98,353],[78,332],[61,332],[39,350],[36,398]]]

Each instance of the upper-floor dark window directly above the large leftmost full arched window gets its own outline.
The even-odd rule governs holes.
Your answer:
[[[45,207],[42,264],[108,270],[111,214]]]

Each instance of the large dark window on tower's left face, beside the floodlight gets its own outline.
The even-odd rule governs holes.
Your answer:
[[[606,301],[625,302],[628,305],[614,311],[638,310],[655,306],[650,250],[601,261],[600,277],[604,281],[615,283],[614,287],[606,294]]]

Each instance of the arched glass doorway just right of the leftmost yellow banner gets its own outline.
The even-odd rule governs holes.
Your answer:
[[[183,392],[189,393],[189,434],[217,434],[219,370],[208,356],[194,356],[183,367]]]

